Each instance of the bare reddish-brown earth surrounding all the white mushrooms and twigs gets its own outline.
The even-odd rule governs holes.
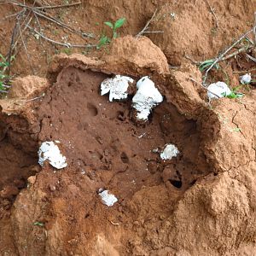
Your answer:
[[[118,38],[110,49],[88,53],[98,59],[61,54],[48,67],[44,53],[32,55],[36,74],[47,79],[17,78],[0,100],[0,255],[256,253],[255,90],[209,104],[206,90],[189,79],[201,81],[201,73],[184,58],[184,50],[195,60],[216,55],[251,27],[256,6],[253,1],[211,5],[219,22],[213,38],[216,20],[204,1],[87,1],[65,10],[63,20],[95,33],[102,29],[95,26],[99,17],[102,22],[125,16],[122,32],[135,35],[157,6],[152,29],[164,33],[150,36],[154,44],[148,38]],[[4,5],[0,12],[15,10]],[[174,20],[169,12],[177,14]],[[10,34],[10,29],[0,32],[1,38]],[[44,44],[27,36],[29,47]],[[44,47],[49,55],[58,49]],[[0,50],[7,48],[2,44]],[[181,66],[173,71],[168,62]],[[20,47],[12,73],[32,74],[24,63]],[[233,72],[246,68],[253,68],[253,61],[241,55],[230,61],[225,76],[215,71],[211,79],[228,75],[235,86],[239,74]],[[131,97],[108,102],[100,96],[102,80],[112,73],[150,75],[165,96],[146,124],[132,119]],[[67,156],[61,171],[37,163],[39,145],[54,140]],[[163,161],[154,153],[166,143],[177,145],[176,159]],[[113,207],[102,204],[101,188],[117,196]]]

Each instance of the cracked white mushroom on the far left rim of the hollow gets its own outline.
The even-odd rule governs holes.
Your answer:
[[[45,160],[49,160],[49,164],[56,169],[67,167],[66,157],[54,142],[44,142],[38,149],[38,164],[44,166]]]

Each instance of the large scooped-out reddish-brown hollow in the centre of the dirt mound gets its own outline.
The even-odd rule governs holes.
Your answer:
[[[49,109],[55,109],[51,113],[52,125],[45,122],[42,126],[40,140],[52,137],[66,145],[65,156],[70,168],[77,160],[83,160],[96,174],[94,182],[111,187],[120,201],[143,186],[164,183],[160,176],[168,164],[173,166],[173,171],[170,175],[166,171],[165,181],[170,180],[177,188],[188,188],[199,174],[211,171],[206,167],[206,160],[200,157],[203,155],[200,154],[201,137],[195,120],[186,119],[172,103],[165,101],[154,108],[147,124],[137,125],[130,119],[131,100],[109,102],[108,96],[98,93],[102,80],[107,77],[103,73],[67,67],[57,79],[59,86],[48,92],[51,101],[45,97],[37,103],[41,122],[49,115]],[[68,84],[73,84],[72,93]],[[101,111],[96,106],[100,106]],[[63,111],[65,114],[61,114]],[[181,152],[178,158],[164,161],[160,159],[160,152],[154,152],[166,143],[177,146]],[[120,165],[120,160],[128,165]],[[178,181],[179,177],[183,177],[183,182]]]

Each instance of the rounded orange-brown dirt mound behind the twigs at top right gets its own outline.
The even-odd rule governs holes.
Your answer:
[[[181,65],[185,55],[195,61],[211,59],[253,26],[253,0],[210,4],[204,0],[173,1],[155,16],[150,30],[163,33],[149,34],[149,38],[173,66]]]

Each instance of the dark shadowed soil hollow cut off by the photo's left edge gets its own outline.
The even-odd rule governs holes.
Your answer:
[[[37,154],[32,153],[34,142],[24,132],[22,119],[9,117],[5,127],[5,118],[0,113],[0,134],[3,135],[0,142],[0,218],[5,210],[9,210],[20,189],[26,187],[27,177],[38,172]]]

